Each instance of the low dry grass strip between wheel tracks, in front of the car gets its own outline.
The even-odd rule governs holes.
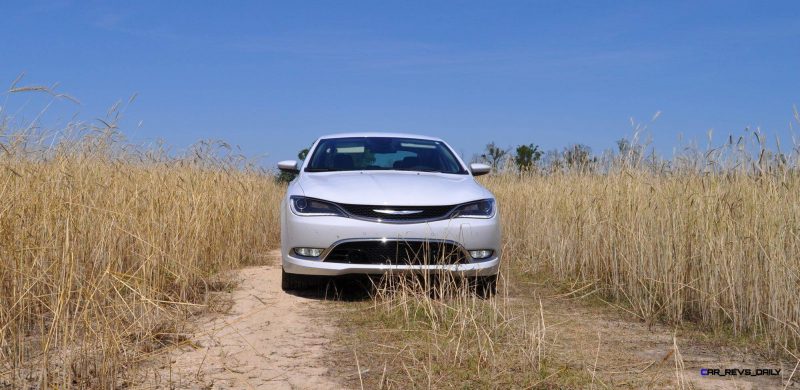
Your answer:
[[[542,307],[525,312],[500,290],[482,299],[447,274],[392,275],[346,316],[362,388],[542,388],[548,366]],[[371,311],[364,316],[364,309]],[[378,329],[375,329],[375,327]],[[352,332],[352,334],[350,334]],[[354,381],[355,382],[355,381]]]

